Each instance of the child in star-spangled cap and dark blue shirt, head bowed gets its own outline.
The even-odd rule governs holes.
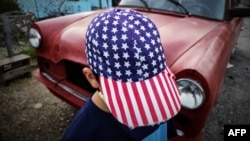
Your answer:
[[[91,21],[85,42],[90,68],[83,74],[97,91],[63,141],[140,141],[179,112],[174,75],[149,18],[111,9]]]

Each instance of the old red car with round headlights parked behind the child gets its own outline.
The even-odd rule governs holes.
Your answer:
[[[202,140],[249,8],[233,0],[121,0],[117,8],[137,10],[158,27],[182,103],[173,118],[178,136],[171,140]],[[104,10],[42,20],[30,28],[38,62],[34,76],[76,107],[94,91],[82,74],[88,66],[84,36],[93,17]]]

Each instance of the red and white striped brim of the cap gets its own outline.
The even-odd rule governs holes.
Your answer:
[[[100,85],[112,115],[132,128],[165,122],[181,108],[174,75],[168,68],[139,82],[100,76]]]

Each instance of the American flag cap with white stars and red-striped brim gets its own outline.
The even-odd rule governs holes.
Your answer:
[[[155,24],[129,9],[97,15],[86,32],[86,55],[99,75],[112,115],[131,127],[165,122],[180,110],[175,76]]]

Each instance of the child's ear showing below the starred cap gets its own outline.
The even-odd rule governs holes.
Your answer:
[[[85,75],[86,79],[89,81],[89,83],[93,88],[96,89],[99,88],[98,78],[96,78],[95,74],[90,68],[88,67],[83,68],[82,73]]]

